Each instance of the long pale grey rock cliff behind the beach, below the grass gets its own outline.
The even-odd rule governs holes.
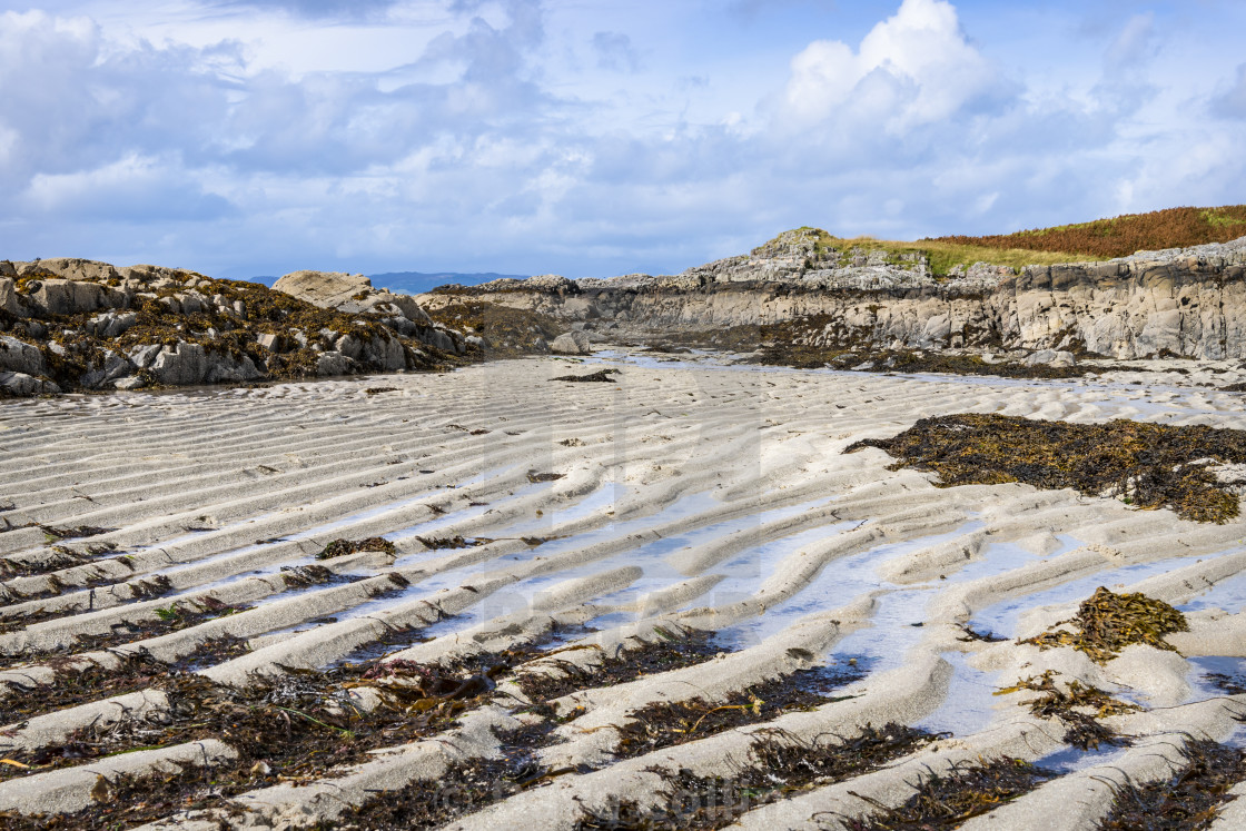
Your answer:
[[[1019,274],[978,264],[939,277],[920,258],[821,252],[826,259],[815,262],[804,250],[758,249],[675,277],[450,287],[420,302],[436,309],[471,295],[629,334],[802,320],[810,325],[801,343],[817,346],[1246,358],[1246,238]]]

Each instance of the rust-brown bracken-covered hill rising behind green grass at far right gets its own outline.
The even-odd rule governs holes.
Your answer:
[[[931,240],[953,245],[1070,252],[1088,257],[1128,257],[1139,250],[1189,248],[1227,243],[1246,237],[1246,204],[1221,208],[1169,208],[1151,213],[1129,213],[1073,226],[1035,228],[989,237],[937,237]]]

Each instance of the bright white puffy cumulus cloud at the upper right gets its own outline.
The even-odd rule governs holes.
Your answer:
[[[943,0],[905,0],[854,51],[819,40],[791,61],[784,116],[799,126],[851,113],[892,132],[948,118],[997,86],[997,70],[968,42]]]

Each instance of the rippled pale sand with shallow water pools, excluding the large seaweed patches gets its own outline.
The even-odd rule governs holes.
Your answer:
[[[603,368],[617,370],[613,382],[551,380]],[[204,639],[242,639],[245,650],[181,665],[244,686],[365,658],[431,667],[538,643],[557,654],[528,655],[522,670],[576,680],[547,709],[498,677],[442,733],[313,776],[257,780],[228,810],[172,805],[147,827],[369,827],[350,825],[354,809],[420,782],[434,795],[456,765],[500,757],[506,729],[545,720],[527,750],[543,779],[450,827],[608,827],[577,824],[612,805],[658,805],[680,775],[729,776],[763,733],[835,744],[896,724],[932,739],[740,811],[731,827],[852,827],[905,804],[923,777],[1009,759],[1053,775],[963,827],[1093,829],[1123,784],[1179,770],[1191,736],[1240,744],[1246,695],[1207,674],[1246,669],[1246,523],[1200,525],[1072,490],[939,488],[931,473],[890,470],[881,450],[842,451],[957,412],[1246,429],[1241,395],[1199,385],[1210,380],[1237,379],[763,370],[619,350],[440,375],[9,401],[0,554],[21,567],[2,584],[0,706],[51,705],[10,719],[0,755],[176,718],[157,680],[55,704],[66,668],[107,670],[141,650],[174,665]],[[46,531],[81,527],[96,533],[55,542]],[[374,538],[392,546],[316,559],[335,539]],[[1136,645],[1099,664],[1019,643],[1100,586],[1182,610],[1190,630],[1168,637],[1176,652]],[[202,614],[162,629],[174,607]],[[219,608],[233,613],[208,613]],[[386,640],[395,632],[419,637]],[[694,633],[714,633],[705,660],[597,675],[640,644]],[[709,710],[821,667],[842,679],[824,703],[617,753],[654,704]],[[1024,693],[996,694],[1045,670],[1136,705],[1103,719],[1129,741],[1079,749]],[[363,711],[380,700],[366,683],[348,691]],[[235,755],[229,736],[153,744],[46,770],[10,765],[0,811],[78,811],[98,802],[101,781]],[[1244,802],[1214,827],[1242,827],[1232,810]]]

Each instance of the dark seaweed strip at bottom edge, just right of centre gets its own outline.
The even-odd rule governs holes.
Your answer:
[[[587,809],[576,831],[611,829],[724,829],[760,805],[841,782],[915,753],[936,736],[901,724],[866,726],[847,741],[800,741],[781,731],[760,734],[749,764],[730,776],[672,772],[670,791],[658,805],[611,799]]]

